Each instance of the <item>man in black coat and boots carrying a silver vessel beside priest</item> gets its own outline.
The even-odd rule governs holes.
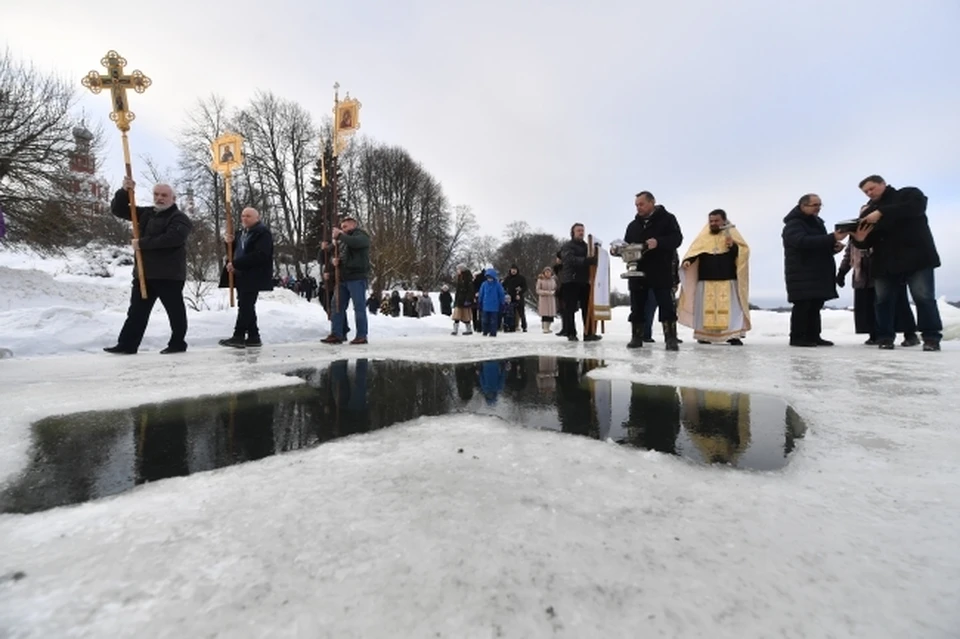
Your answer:
[[[640,191],[634,200],[637,215],[627,225],[623,241],[627,244],[645,244],[646,252],[640,259],[639,269],[644,277],[630,278],[630,342],[627,348],[643,346],[645,324],[644,309],[648,291],[653,291],[660,309],[660,323],[668,351],[679,350],[677,340],[677,307],[673,299],[674,279],[677,267],[674,264],[677,249],[683,242],[680,224],[666,208],[657,204],[650,191]]]

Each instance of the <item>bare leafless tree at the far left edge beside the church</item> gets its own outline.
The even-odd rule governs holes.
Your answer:
[[[71,228],[64,192],[71,144],[72,85],[0,54],[0,205],[10,236],[40,246]]]

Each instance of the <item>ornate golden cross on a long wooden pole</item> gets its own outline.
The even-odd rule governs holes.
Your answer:
[[[127,102],[127,89],[143,93],[152,82],[140,70],[136,70],[129,75],[125,74],[123,68],[127,65],[127,61],[120,57],[120,54],[116,51],[108,51],[107,55],[100,60],[100,64],[106,67],[107,75],[91,71],[84,76],[82,84],[94,93],[100,93],[105,87],[110,89],[110,100],[113,105],[110,119],[120,129],[123,141],[123,161],[127,169],[127,178],[132,180],[133,170],[130,167],[130,142],[127,140],[127,131],[130,130],[130,123],[133,122],[136,115],[130,110],[130,105]],[[139,240],[140,221],[137,219],[137,200],[133,189],[127,189],[127,196],[130,199],[130,221],[133,223],[133,239]],[[134,259],[137,263],[137,278],[140,280],[140,297],[147,299],[147,279],[143,273],[143,256],[140,254],[139,246],[134,251]]]

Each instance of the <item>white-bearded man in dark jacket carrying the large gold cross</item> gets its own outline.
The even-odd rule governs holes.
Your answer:
[[[123,179],[123,188],[117,191],[110,203],[110,211],[116,217],[130,219],[128,190],[135,189],[130,178]],[[133,266],[133,287],[130,291],[130,307],[123,323],[116,346],[104,348],[115,355],[132,355],[140,348],[143,333],[147,330],[150,311],[159,299],[170,320],[170,341],[160,351],[164,355],[187,350],[187,309],[183,304],[183,285],[187,280],[187,237],[193,223],[176,204],[176,195],[168,184],[153,187],[153,206],[138,206],[137,221],[140,239],[133,240],[133,250],[140,249],[143,260],[144,279],[147,282],[147,299],[140,295],[137,266]]]

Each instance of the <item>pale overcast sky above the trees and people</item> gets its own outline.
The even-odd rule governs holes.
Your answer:
[[[487,234],[582,221],[609,244],[646,189],[689,241],[724,208],[751,245],[752,298],[771,304],[797,198],[820,194],[832,224],[880,173],[929,196],[938,293],[960,298],[957,0],[3,4],[18,57],[79,83],[112,48],[153,79],[131,97],[131,142],[161,165],[200,96],[270,89],[319,118],[338,81],[362,132],[408,149]],[[92,120],[108,103],[82,102]]]

